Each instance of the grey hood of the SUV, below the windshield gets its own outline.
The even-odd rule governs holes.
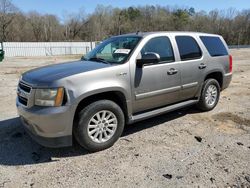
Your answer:
[[[71,75],[110,66],[112,65],[94,61],[67,62],[30,70],[22,75],[22,80],[34,85],[47,84]]]

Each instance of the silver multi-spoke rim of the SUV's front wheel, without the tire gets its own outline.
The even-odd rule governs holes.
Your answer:
[[[117,129],[117,117],[108,110],[94,114],[88,123],[88,136],[95,143],[104,143],[110,140]]]

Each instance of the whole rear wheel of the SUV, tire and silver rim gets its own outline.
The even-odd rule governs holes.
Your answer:
[[[216,94],[212,94],[215,92]],[[214,107],[217,105],[219,98],[220,98],[220,85],[218,81],[215,79],[207,79],[204,82],[200,100],[196,106],[202,111],[210,111],[214,109]]]

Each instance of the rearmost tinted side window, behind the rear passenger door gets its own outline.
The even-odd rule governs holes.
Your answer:
[[[219,37],[201,36],[200,39],[207,48],[210,56],[228,55],[227,49]]]

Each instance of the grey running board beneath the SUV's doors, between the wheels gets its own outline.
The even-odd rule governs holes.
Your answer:
[[[134,115],[134,116],[131,117],[131,119],[129,120],[129,123],[134,123],[134,122],[141,121],[141,120],[144,120],[144,119],[148,119],[148,118],[160,115],[160,114],[171,112],[171,111],[174,111],[174,110],[186,107],[186,106],[190,106],[190,105],[193,105],[193,104],[197,103],[198,101],[199,100],[188,100],[188,101],[184,101],[184,102],[181,102],[181,103],[166,106],[166,107],[163,107],[163,108],[158,108],[156,110],[152,110],[152,111],[144,112],[144,113],[141,113],[141,114],[137,114],[137,115]]]

